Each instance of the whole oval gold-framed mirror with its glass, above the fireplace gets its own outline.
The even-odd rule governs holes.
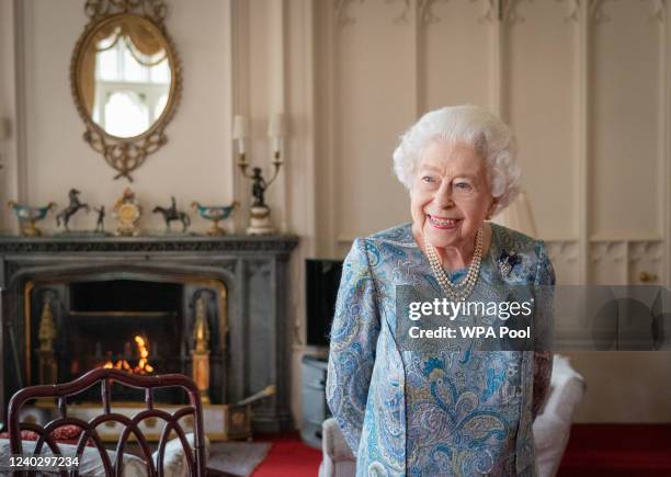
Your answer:
[[[83,137],[118,174],[167,143],[181,92],[181,68],[163,24],[162,0],[87,0],[91,19],[70,64]]]

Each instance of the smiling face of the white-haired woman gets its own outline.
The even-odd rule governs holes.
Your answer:
[[[439,250],[468,253],[493,211],[485,159],[467,145],[435,140],[422,152],[411,197],[412,229]]]

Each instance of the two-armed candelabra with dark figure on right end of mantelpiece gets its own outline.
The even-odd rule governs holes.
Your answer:
[[[271,220],[271,208],[265,203],[265,191],[275,181],[275,179],[277,179],[280,169],[284,164],[281,152],[282,139],[286,136],[284,116],[281,113],[273,115],[268,128],[268,136],[271,138],[273,146],[272,164],[274,167],[273,174],[269,180],[265,180],[263,178],[263,172],[260,167],[253,167],[251,174],[247,171],[248,167],[250,167],[250,163],[247,161],[247,150],[244,147],[247,140],[247,118],[240,115],[236,116],[234,118],[232,138],[238,146],[238,167],[240,168],[242,177],[251,180],[252,183],[251,193],[253,201],[249,211],[250,223],[249,227],[247,228],[247,234],[274,234],[275,228],[273,227]]]

